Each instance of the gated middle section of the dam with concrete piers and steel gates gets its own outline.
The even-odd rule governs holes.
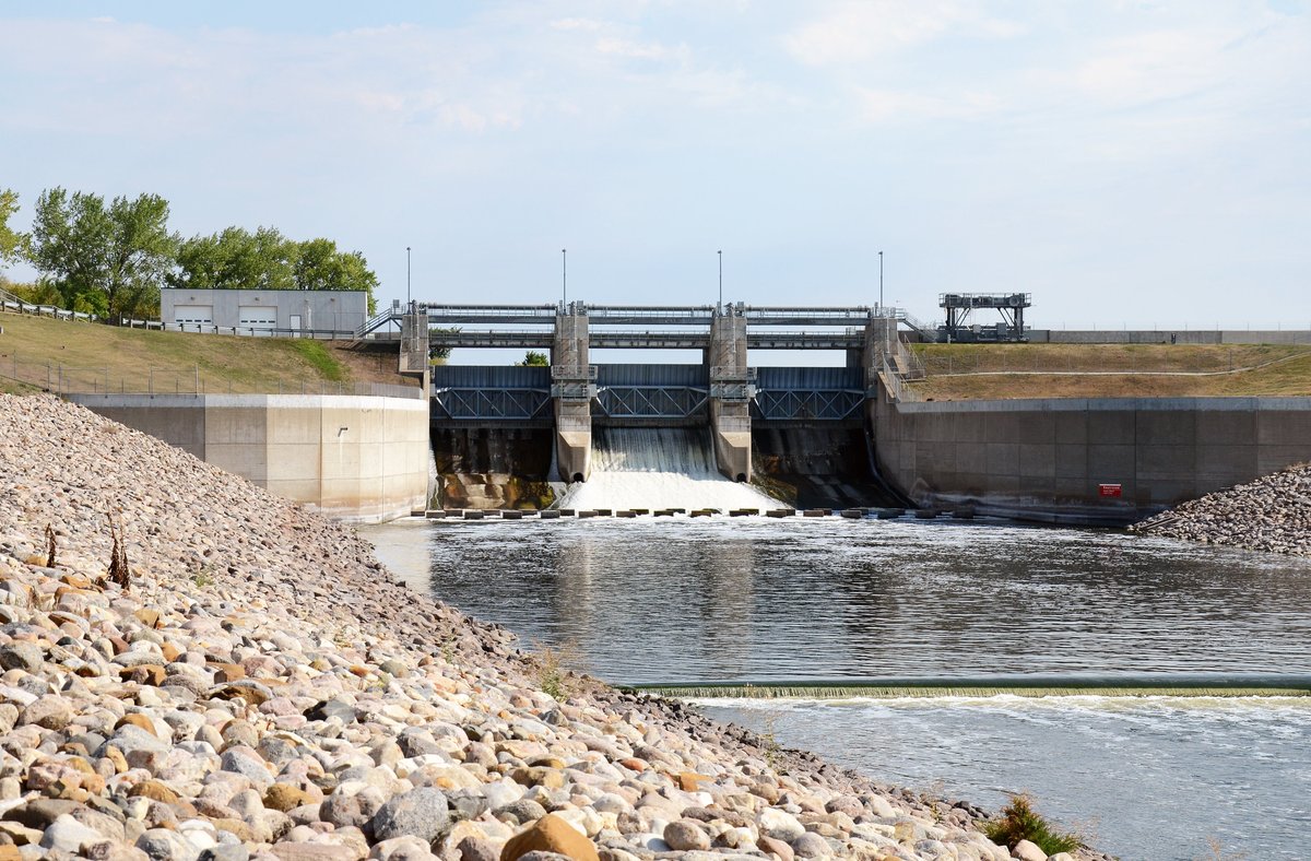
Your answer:
[[[603,429],[705,429],[720,474],[756,480],[791,505],[898,502],[877,478],[865,430],[874,379],[898,343],[894,317],[867,307],[741,304],[412,311],[426,317],[433,347],[551,356],[548,367],[431,368],[433,448],[442,502],[452,507],[531,505],[526,495],[543,482],[586,482]],[[699,350],[703,359],[594,364],[593,349]],[[753,349],[836,350],[846,364],[755,368]]]

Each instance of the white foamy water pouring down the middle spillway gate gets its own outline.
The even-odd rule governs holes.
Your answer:
[[[606,427],[593,434],[591,478],[569,485],[561,508],[777,508],[783,503],[714,468],[709,431]]]

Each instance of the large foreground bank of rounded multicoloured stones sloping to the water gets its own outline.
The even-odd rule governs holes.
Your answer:
[[[0,396],[0,861],[1009,857],[968,803],[557,676],[349,527],[47,396]]]

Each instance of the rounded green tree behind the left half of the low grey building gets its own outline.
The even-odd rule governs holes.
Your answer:
[[[299,245],[271,227],[240,227],[194,236],[177,252],[173,287],[193,290],[294,290]]]

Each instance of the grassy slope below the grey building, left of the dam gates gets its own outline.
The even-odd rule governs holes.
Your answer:
[[[47,367],[52,384],[62,373],[66,389],[79,392],[191,392],[197,377],[201,391],[216,393],[414,385],[396,373],[395,347],[366,353],[342,341],[151,332],[8,313],[0,313],[0,392],[41,391]]]

